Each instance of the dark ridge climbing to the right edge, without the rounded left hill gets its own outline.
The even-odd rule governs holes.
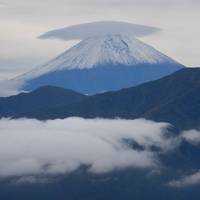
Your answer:
[[[195,87],[194,87],[195,85]],[[27,111],[16,118],[146,118],[182,128],[200,123],[200,68],[186,68],[139,86],[85,96],[79,102]],[[1,102],[1,101],[0,101]],[[187,105],[187,106],[184,106]],[[3,106],[3,105],[2,105]],[[1,113],[1,117],[3,113]]]

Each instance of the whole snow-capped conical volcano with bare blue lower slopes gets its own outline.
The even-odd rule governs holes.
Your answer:
[[[183,65],[136,38],[110,34],[84,39],[14,80],[24,91],[52,85],[96,94],[155,80],[181,68]]]

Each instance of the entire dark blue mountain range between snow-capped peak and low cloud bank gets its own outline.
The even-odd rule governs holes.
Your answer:
[[[200,68],[185,68],[162,79],[119,91],[86,96],[52,86],[0,98],[1,117],[56,119],[147,118],[180,129],[200,124]]]

